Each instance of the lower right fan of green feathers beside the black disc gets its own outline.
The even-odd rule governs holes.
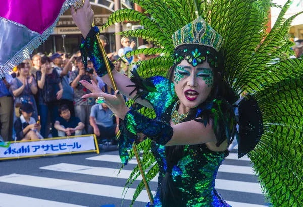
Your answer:
[[[288,64],[303,68],[301,59],[287,60]],[[303,205],[301,77],[302,73],[273,83],[253,95],[262,112],[264,133],[248,156],[266,198],[274,206]]]

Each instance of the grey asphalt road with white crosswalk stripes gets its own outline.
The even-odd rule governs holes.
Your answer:
[[[136,181],[122,203],[126,178],[135,167],[132,160],[117,177],[117,151],[0,161],[0,206],[129,206]],[[150,182],[155,191],[157,182]],[[265,206],[257,178],[247,157],[231,153],[219,168],[216,188],[233,207]],[[148,202],[146,191],[135,207]]]

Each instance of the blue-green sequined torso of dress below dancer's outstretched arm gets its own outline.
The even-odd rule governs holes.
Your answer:
[[[165,147],[153,143],[152,152],[159,166],[159,186],[167,169]],[[224,154],[209,150],[205,144],[185,146],[184,156],[172,169],[172,177],[186,206],[229,206],[214,189]],[[157,195],[154,206],[162,206]]]

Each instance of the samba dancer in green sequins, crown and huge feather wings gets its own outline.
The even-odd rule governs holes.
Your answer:
[[[289,25],[300,14],[284,18],[291,0],[270,33],[266,31],[268,11],[275,5],[269,0],[133,1],[151,18],[121,9],[110,15],[103,28],[116,22],[139,22],[144,29],[123,34],[162,48],[135,50],[126,57],[164,55],[139,62],[131,79],[113,70],[110,62],[118,88],[114,96],[103,94],[95,83],[80,83],[92,91],[83,98],[103,97],[121,118],[123,164],[133,156],[128,150],[136,134],[149,138],[138,149],[144,150],[143,167],[150,167],[147,181],[159,172],[155,206],[229,206],[214,183],[234,135],[238,157],[247,154],[254,163],[271,204],[302,206],[303,60],[289,58]],[[95,37],[99,30],[90,27],[89,1],[77,11],[72,8],[72,16],[85,38],[80,45],[83,62],[89,55],[96,73],[111,86]],[[237,105],[237,132],[231,105],[243,91],[250,94]],[[126,107],[120,92],[145,107],[139,111]],[[138,175],[135,168],[126,185]],[[133,202],[143,187],[141,182]]]

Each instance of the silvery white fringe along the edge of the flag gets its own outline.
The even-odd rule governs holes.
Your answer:
[[[9,59],[4,65],[1,66],[0,70],[0,78],[4,77],[5,74],[12,71],[12,69],[20,64],[23,60],[33,53],[33,51],[39,47],[45,40],[54,32],[54,28],[56,27],[57,22],[59,21],[59,17],[70,8],[70,5],[74,5],[76,2],[80,2],[82,0],[66,0],[60,10],[60,13],[54,23],[48,27],[42,34],[39,34],[36,38],[31,40],[27,45],[25,45],[21,50],[19,50],[11,59]],[[31,31],[33,32],[33,31]]]

